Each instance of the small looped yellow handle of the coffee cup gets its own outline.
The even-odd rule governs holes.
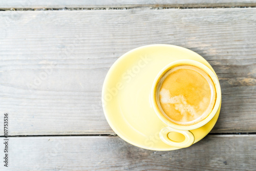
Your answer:
[[[182,141],[182,142],[176,142],[176,141],[173,141],[173,140],[170,140],[168,138],[168,134],[170,132],[178,132],[178,133],[181,133],[185,136],[185,140]],[[190,145],[192,145],[195,141],[195,137],[193,135],[193,133],[191,133],[190,131],[183,131],[183,130],[176,130],[172,127],[164,127],[161,131],[160,131],[160,138],[161,140],[168,144],[168,145],[172,145],[174,147],[178,147],[178,148],[185,148],[185,147],[188,147]]]

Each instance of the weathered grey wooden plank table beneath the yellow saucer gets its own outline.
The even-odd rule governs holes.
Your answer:
[[[255,170],[255,6],[238,0],[1,0],[0,170]],[[193,50],[220,79],[219,120],[188,148],[133,146],[105,120],[106,73],[122,54],[149,44]]]

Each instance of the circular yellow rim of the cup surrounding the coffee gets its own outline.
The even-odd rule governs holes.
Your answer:
[[[177,67],[177,66],[181,66],[181,65],[190,65],[190,66],[195,66],[198,67],[200,69],[202,69],[203,71],[205,71],[210,78],[212,79],[212,81],[214,82],[215,85],[215,89],[216,89],[216,101],[215,101],[215,105],[214,108],[212,109],[212,111],[209,113],[209,115],[201,120],[198,123],[195,123],[193,125],[178,125],[176,123],[173,123],[171,121],[169,121],[167,118],[165,118],[161,111],[158,108],[157,105],[157,101],[156,101],[156,88],[157,88],[157,84],[160,81],[161,77],[171,68]],[[157,116],[168,126],[170,127],[174,127],[175,129],[179,129],[179,130],[195,130],[198,129],[199,127],[205,125],[206,123],[208,123],[217,113],[220,103],[221,103],[221,87],[220,87],[220,82],[219,79],[217,77],[217,75],[211,71],[211,69],[209,69],[207,66],[205,66],[203,63],[195,61],[195,60],[191,60],[191,59],[181,59],[181,60],[176,60],[174,62],[170,62],[168,63],[168,65],[166,65],[156,76],[153,85],[152,85],[152,90],[151,90],[151,101],[152,101],[152,106],[154,108],[154,111],[156,112]]]

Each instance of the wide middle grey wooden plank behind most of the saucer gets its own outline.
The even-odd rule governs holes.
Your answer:
[[[256,132],[255,13],[2,11],[0,109],[10,114],[10,135],[113,134],[100,102],[104,77],[119,56],[148,44],[188,48],[215,69],[223,97],[212,132]]]

